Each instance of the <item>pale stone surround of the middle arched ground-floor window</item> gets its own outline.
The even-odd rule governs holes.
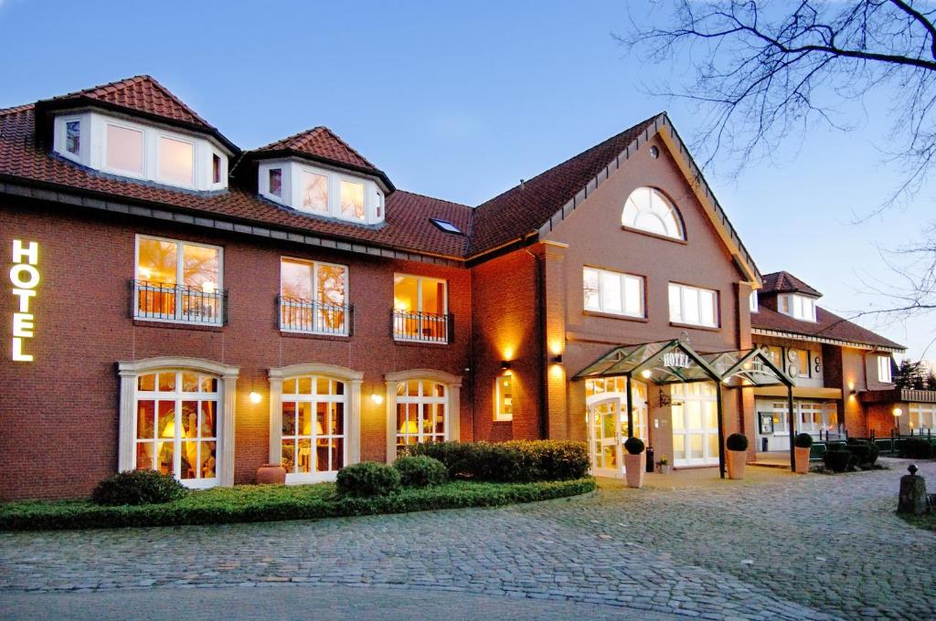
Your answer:
[[[344,382],[344,443],[345,459],[348,465],[360,461],[360,385],[364,381],[363,371],[338,365],[306,363],[271,368],[270,378],[270,463],[279,464],[283,455],[283,382],[284,380],[305,375],[317,375]],[[292,484],[293,482],[287,482]],[[296,481],[295,484],[309,483]]]

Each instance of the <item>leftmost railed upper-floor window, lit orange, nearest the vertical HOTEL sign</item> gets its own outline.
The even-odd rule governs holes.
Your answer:
[[[221,249],[137,238],[134,317],[220,325]]]

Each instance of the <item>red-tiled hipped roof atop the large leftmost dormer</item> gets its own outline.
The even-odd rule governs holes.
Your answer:
[[[107,84],[82,89],[74,93],[58,95],[36,104],[39,119],[53,110],[86,107],[106,108],[118,112],[129,112],[159,123],[169,123],[211,134],[231,152],[239,152],[237,146],[224,137],[216,127],[198,116],[181,99],[172,94],[152,76],[139,75],[118,79]]]

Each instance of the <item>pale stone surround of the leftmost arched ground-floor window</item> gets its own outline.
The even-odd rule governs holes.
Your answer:
[[[236,420],[237,379],[241,369],[212,360],[185,356],[156,356],[117,363],[120,376],[120,419],[118,431],[117,471],[136,468],[137,378],[158,370],[190,370],[216,376],[218,386],[218,485],[234,484],[234,426]]]

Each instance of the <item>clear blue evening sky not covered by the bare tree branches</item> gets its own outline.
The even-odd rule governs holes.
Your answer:
[[[148,73],[241,148],[328,125],[406,190],[476,205],[666,109],[641,84],[691,79],[628,57],[627,5],[590,2],[40,2],[0,0],[0,107]],[[660,17],[665,12],[658,11]],[[894,96],[887,94],[886,96]],[[882,98],[884,99],[884,98]],[[816,128],[739,178],[707,173],[762,272],[786,269],[840,313],[886,305],[879,247],[936,217],[910,206],[853,224],[899,181],[886,108],[859,131]],[[936,358],[934,317],[859,323]]]

